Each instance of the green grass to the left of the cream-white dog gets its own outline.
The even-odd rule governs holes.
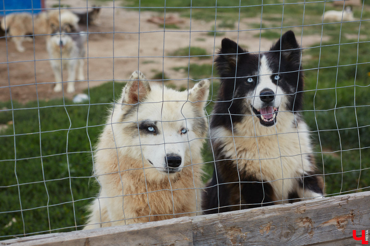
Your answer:
[[[68,229],[53,232],[73,231],[85,223],[88,198],[97,192],[89,178],[91,148],[104,123],[102,116],[122,85],[113,87],[110,82],[91,89],[90,107],[70,100],[65,100],[65,107],[62,100],[39,101],[39,105],[13,101],[14,118],[11,110],[0,112],[0,124],[14,124],[0,132],[0,236],[58,228]],[[3,107],[11,109],[11,104],[0,103]],[[16,222],[3,227],[13,218]]]

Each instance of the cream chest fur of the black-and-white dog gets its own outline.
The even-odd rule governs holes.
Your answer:
[[[253,125],[249,121],[256,117],[245,118],[235,125],[234,132],[225,127],[212,129],[212,138],[216,137],[213,144],[220,149],[215,155],[220,157],[218,159],[231,160],[230,163],[238,167],[240,179],[252,176],[259,181],[268,181],[275,200],[286,199],[297,185],[295,178],[313,171],[314,166],[310,163],[312,147],[306,124],[301,121],[296,126],[291,123],[261,128],[256,122],[255,128],[250,129],[245,125]],[[260,132],[262,129],[264,134]]]

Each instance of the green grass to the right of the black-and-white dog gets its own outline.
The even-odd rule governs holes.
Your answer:
[[[309,91],[306,92],[305,110],[310,111],[305,112],[305,118],[310,128],[316,131],[313,134],[316,143],[320,141],[323,148],[336,152],[336,155],[318,156],[327,174],[328,194],[354,190],[358,184],[360,188],[370,186],[367,179],[370,175],[370,79],[367,75],[370,51],[367,43],[346,44],[352,41],[343,37],[342,45],[332,45],[333,42],[338,43],[336,40],[323,43],[321,53],[320,48],[307,50],[312,59],[305,64],[306,69],[312,69],[306,72],[306,90]],[[320,69],[317,71],[319,57]],[[338,59],[340,67],[337,69]],[[363,148],[361,152],[359,148]],[[321,152],[319,145],[316,150]],[[360,168],[367,168],[361,171],[361,176],[360,171],[355,171]],[[342,169],[347,171],[343,173],[343,181]]]

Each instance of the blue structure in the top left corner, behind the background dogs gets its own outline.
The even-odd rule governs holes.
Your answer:
[[[0,15],[14,12],[30,12],[36,14],[43,10],[43,8],[45,8],[44,0],[0,0]]]

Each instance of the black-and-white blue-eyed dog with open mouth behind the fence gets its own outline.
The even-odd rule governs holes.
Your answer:
[[[287,31],[269,52],[249,53],[224,38],[210,122],[215,156],[206,214],[323,197],[303,121],[301,50]]]

